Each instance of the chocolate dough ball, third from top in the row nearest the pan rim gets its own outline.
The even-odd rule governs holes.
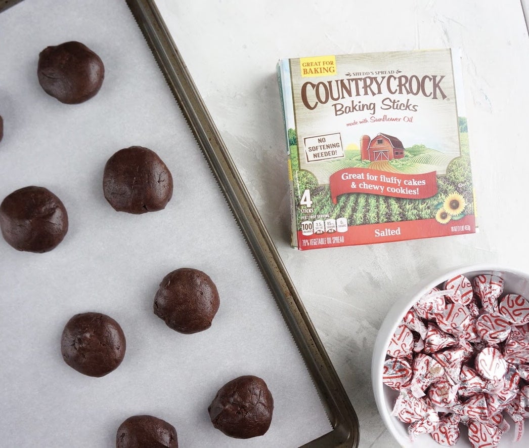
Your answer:
[[[198,333],[211,327],[219,303],[209,276],[183,267],[163,278],[154,297],[154,314],[180,333]]]

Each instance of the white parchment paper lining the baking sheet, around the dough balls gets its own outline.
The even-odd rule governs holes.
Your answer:
[[[0,14],[0,39],[0,197],[45,186],[70,219],[47,254],[0,241],[2,443],[113,446],[133,414],[167,420],[183,446],[298,446],[329,432],[297,347],[125,3],[28,0]],[[80,105],[46,95],[36,76],[39,52],[68,40],[105,64],[101,91]],[[133,216],[106,203],[104,164],[131,145],[168,165],[175,192],[166,210]],[[152,313],[158,283],[182,266],[207,272],[220,292],[203,333],[178,334]],[[123,363],[103,378],[60,356],[63,326],[83,311],[112,316],[127,338]],[[265,436],[240,441],[213,428],[207,406],[222,384],[248,373],[267,381],[275,410]]]

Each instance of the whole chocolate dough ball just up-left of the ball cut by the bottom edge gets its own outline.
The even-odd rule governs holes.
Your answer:
[[[99,312],[76,314],[62,330],[62,359],[89,377],[104,377],[115,370],[123,361],[125,348],[120,325]]]

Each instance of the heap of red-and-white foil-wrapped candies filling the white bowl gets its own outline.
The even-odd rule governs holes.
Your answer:
[[[469,428],[475,448],[493,448],[529,418],[529,301],[501,297],[497,275],[446,280],[406,313],[388,348],[384,383],[400,391],[393,415],[413,441],[430,433],[445,446]],[[411,373],[410,373],[411,372]],[[509,420],[510,421],[510,420]]]

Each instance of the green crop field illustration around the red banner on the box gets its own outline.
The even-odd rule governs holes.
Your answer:
[[[461,123],[460,123],[461,124]],[[473,214],[473,190],[469,156],[468,133],[466,121],[464,128],[460,126],[461,156],[453,158],[441,151],[414,145],[405,148],[405,157],[393,160],[362,160],[360,150],[345,149],[345,157],[330,160],[318,166],[318,172],[325,173],[328,178],[336,171],[350,167],[377,169],[385,172],[421,174],[437,172],[437,194],[427,199],[401,199],[375,194],[348,193],[338,198],[333,204],[329,184],[318,184],[316,177],[309,171],[299,171],[298,148],[290,146],[290,158],[294,176],[294,195],[299,203],[305,190],[311,191],[313,215],[328,218],[346,218],[349,226],[374,224],[383,222],[410,221],[435,218],[441,223],[439,210],[449,196],[455,195],[464,204],[463,210],[452,220],[461,219]],[[449,218],[449,219],[450,219]],[[297,208],[298,226],[306,216]]]

